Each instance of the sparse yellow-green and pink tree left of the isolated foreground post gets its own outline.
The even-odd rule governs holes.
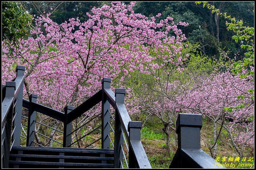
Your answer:
[[[172,133],[175,135],[175,122],[180,111],[177,100],[184,95],[182,85],[186,87],[190,81],[196,84],[198,77],[207,76],[208,72],[213,70],[209,59],[202,57],[201,54],[193,54],[195,49],[196,46],[190,45],[188,47],[185,45],[180,54],[176,55],[180,55],[178,58],[186,56],[181,60],[183,65],[179,63],[182,67],[177,66],[177,63],[172,59],[158,59],[159,67],[154,70],[151,69],[150,74],[141,74],[135,71],[131,77],[126,77],[123,82],[135,93],[134,101],[139,106],[139,118],[143,121],[143,125],[153,115],[162,122],[168,152],[171,151],[172,145],[175,143],[172,141]],[[152,56],[158,55],[155,52],[150,54]],[[163,63],[166,64],[162,65]]]

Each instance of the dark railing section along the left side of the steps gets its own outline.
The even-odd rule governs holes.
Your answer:
[[[17,66],[16,78],[2,85],[2,168],[8,167],[11,148],[20,146],[24,71]]]

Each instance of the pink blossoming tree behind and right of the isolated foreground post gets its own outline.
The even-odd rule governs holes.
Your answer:
[[[201,113],[213,123],[214,144],[208,145],[212,157],[216,157],[217,140],[223,128],[240,157],[245,145],[254,147],[254,94],[248,92],[254,88],[254,82],[250,79],[225,72],[204,78],[192,87],[183,86],[185,93],[177,100],[179,111]]]

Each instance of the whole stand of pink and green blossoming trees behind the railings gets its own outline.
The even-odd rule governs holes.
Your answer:
[[[15,77],[16,65],[23,65],[23,98],[37,94],[38,103],[63,111],[94,95],[108,77],[113,90],[126,88],[131,116],[143,123],[159,118],[168,151],[181,112],[202,114],[213,125],[213,142],[207,145],[212,157],[223,130],[240,157],[245,147],[254,149],[254,42],[246,44],[253,64],[234,73],[236,61],[223,50],[222,58],[209,59],[187,41],[182,29],[189,23],[174,22],[172,16],[157,22],[160,13],[137,14],[134,5],[92,7],[83,22],[70,18],[57,24],[52,8],[34,16],[27,37],[16,44],[2,40],[2,84]],[[83,121],[101,106],[94,109]]]

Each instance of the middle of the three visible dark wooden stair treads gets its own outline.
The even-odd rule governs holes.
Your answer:
[[[61,153],[60,153],[61,154]],[[102,155],[102,154],[101,154]],[[114,160],[113,157],[93,157],[93,156],[64,156],[64,155],[27,155],[27,154],[10,154],[11,157],[38,157],[38,158],[57,158],[57,159],[89,159],[89,160]],[[21,160],[16,160],[21,161]]]

